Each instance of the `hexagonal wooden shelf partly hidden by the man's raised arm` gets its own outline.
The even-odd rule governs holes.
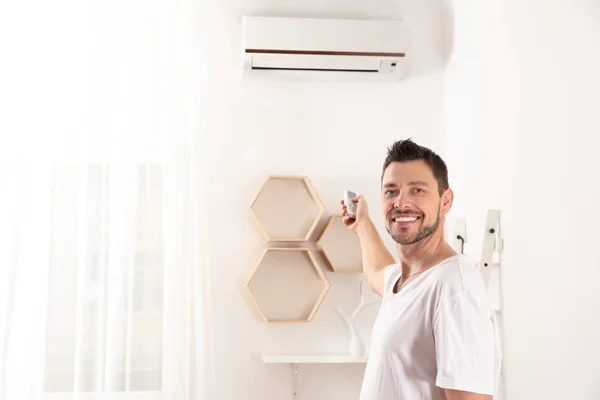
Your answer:
[[[344,225],[341,214],[329,217],[316,244],[332,271],[363,272],[360,241]]]

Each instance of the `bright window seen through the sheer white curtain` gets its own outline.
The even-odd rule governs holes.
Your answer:
[[[161,392],[161,165],[52,173],[44,391]]]

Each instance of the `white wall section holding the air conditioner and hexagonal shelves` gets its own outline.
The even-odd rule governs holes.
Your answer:
[[[206,189],[211,192],[206,206],[217,399],[291,398],[289,366],[266,366],[260,361],[262,353],[347,350],[345,327],[334,310],[354,307],[357,275],[328,273],[331,290],[310,324],[261,322],[244,288],[248,269],[265,246],[249,206],[269,174],[302,174],[310,177],[325,202],[326,216],[338,212],[341,191],[350,188],[367,195],[380,221],[379,176],[386,147],[409,136],[440,151],[444,145],[446,15],[435,3],[400,8],[396,2],[330,0],[303,2],[299,8],[264,0],[244,6],[229,2],[201,17],[207,24],[204,44],[210,49],[203,56],[215,60],[207,65],[212,70],[206,82],[211,89],[204,92],[199,112]],[[396,85],[243,82],[239,79],[243,14],[402,15],[412,20],[408,54],[414,78]],[[375,312],[372,307],[360,321],[367,340]],[[357,399],[363,371],[363,366],[352,365],[306,366],[300,375],[299,399]]]

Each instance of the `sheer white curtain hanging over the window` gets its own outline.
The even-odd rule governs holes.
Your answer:
[[[195,3],[12,3],[0,399],[207,399]]]

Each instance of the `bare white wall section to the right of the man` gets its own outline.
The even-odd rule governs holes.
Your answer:
[[[502,210],[507,399],[600,398],[600,5],[456,1],[447,158],[478,251]]]

